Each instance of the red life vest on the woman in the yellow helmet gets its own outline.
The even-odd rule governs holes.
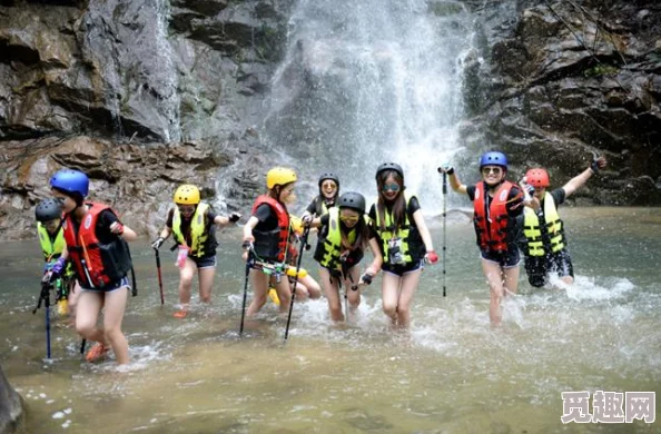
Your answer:
[[[289,213],[280,201],[268,195],[262,195],[255,199],[251,214],[255,214],[262,204],[268,205],[276,214],[278,227],[270,231],[253,231],[255,236],[255,251],[258,256],[264,256],[266,259],[284,262],[285,251],[290,247],[289,236],[293,235],[289,229]]]

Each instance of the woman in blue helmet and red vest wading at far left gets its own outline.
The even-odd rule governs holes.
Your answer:
[[[110,207],[86,200],[89,178],[82,171],[59,170],[50,178],[50,187],[62,205],[67,245],[51,268],[51,280],[61,276],[66,260],[70,260],[80,286],[76,332],[95,342],[86,359],[99,361],[112,348],[117,364],[128,364],[128,342],[121,332],[131,288],[127,275],[132,262],[127,241],[138,236]]]

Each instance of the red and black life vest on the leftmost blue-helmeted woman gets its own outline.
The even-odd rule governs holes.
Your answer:
[[[130,253],[128,245],[120,237],[109,244],[101,244],[97,238],[96,227],[99,215],[110,207],[96,203],[86,205],[89,209],[82,217],[78,235],[69,214],[65,217],[62,229],[65,229],[69,258],[80,284],[88,288],[102,288],[125,277],[131,269]]]

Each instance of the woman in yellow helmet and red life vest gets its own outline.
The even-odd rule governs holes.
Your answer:
[[[294,187],[296,172],[285,167],[275,167],[266,174],[268,191],[258,196],[253,205],[250,218],[244,226],[244,259],[248,259],[248,249],[253,248],[256,257],[265,263],[287,264],[293,253],[289,243],[292,225],[287,205],[296,200]],[[253,269],[253,300],[247,315],[254,315],[266,303],[269,278],[262,270]],[[280,312],[287,312],[292,300],[292,289],[287,278],[280,278],[275,285],[280,300]]]

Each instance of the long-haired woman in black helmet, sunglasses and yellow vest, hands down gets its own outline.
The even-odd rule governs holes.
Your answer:
[[[406,329],[424,262],[436,264],[438,255],[417,197],[405,193],[402,167],[394,162],[381,165],[376,169],[376,188],[378,199],[369,208],[369,218],[378,235],[384,262],[383,310],[393,327]]]

